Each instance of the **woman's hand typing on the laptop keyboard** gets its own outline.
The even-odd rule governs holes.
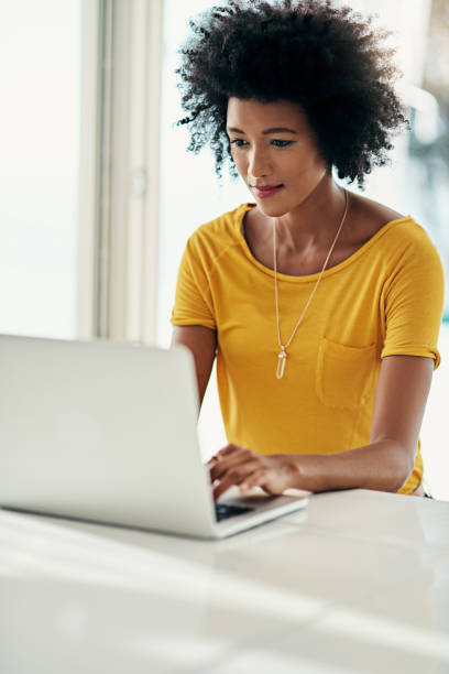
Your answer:
[[[232,485],[241,491],[262,487],[270,494],[282,493],[294,486],[296,467],[288,454],[261,455],[238,445],[227,445],[208,461],[213,499],[217,499]]]

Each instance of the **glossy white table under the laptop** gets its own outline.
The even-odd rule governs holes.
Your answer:
[[[449,503],[352,490],[232,539],[0,510],[1,674],[449,672]]]

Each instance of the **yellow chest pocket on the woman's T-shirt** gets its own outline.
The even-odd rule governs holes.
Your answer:
[[[355,410],[374,387],[376,346],[353,347],[324,337],[318,348],[316,391],[330,407]]]

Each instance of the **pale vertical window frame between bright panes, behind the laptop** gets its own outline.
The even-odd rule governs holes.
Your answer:
[[[83,0],[77,336],[156,335],[163,0]]]

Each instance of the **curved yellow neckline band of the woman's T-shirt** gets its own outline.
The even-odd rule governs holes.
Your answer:
[[[274,270],[270,269],[269,267],[265,267],[265,264],[262,264],[262,262],[260,262],[256,258],[254,258],[254,256],[251,252],[250,247],[248,246],[247,239],[244,238],[244,236],[242,233],[242,225],[243,225],[244,215],[245,215],[245,213],[251,210],[251,208],[253,208],[254,206],[256,206],[255,203],[247,202],[245,204],[242,204],[238,208],[238,211],[240,210],[240,213],[238,213],[238,217],[237,217],[237,236],[239,238],[239,242],[242,246],[243,251],[244,251],[247,258],[249,258],[249,260],[255,267],[258,267],[261,271],[263,271],[265,274],[267,274],[270,276],[273,276],[273,279],[274,279]],[[346,258],[346,260],[342,260],[338,264],[335,264],[333,267],[330,267],[329,269],[326,269],[324,271],[324,273],[322,273],[322,279],[325,279],[326,276],[330,276],[330,275],[339,272],[340,270],[344,269],[349,264],[351,264],[354,260],[357,260],[364,252],[366,252],[366,250],[369,250],[375,243],[375,241],[377,239],[380,239],[386,231],[392,229],[392,227],[394,227],[395,225],[397,225],[399,222],[404,222],[406,220],[412,220],[413,221],[412,216],[407,215],[407,216],[404,216],[403,218],[396,218],[395,220],[390,220],[388,222],[383,225],[375,232],[375,235],[373,235],[371,237],[371,239],[365,241],[360,248],[358,248],[358,250],[355,250],[351,256]],[[314,282],[314,281],[315,282],[317,281],[317,279],[319,276],[319,273],[320,272],[316,272],[315,274],[307,274],[307,275],[297,276],[297,275],[283,274],[282,272],[277,272],[277,278],[281,279],[281,280],[284,280],[284,281],[291,281],[293,283],[310,283],[310,282]]]

